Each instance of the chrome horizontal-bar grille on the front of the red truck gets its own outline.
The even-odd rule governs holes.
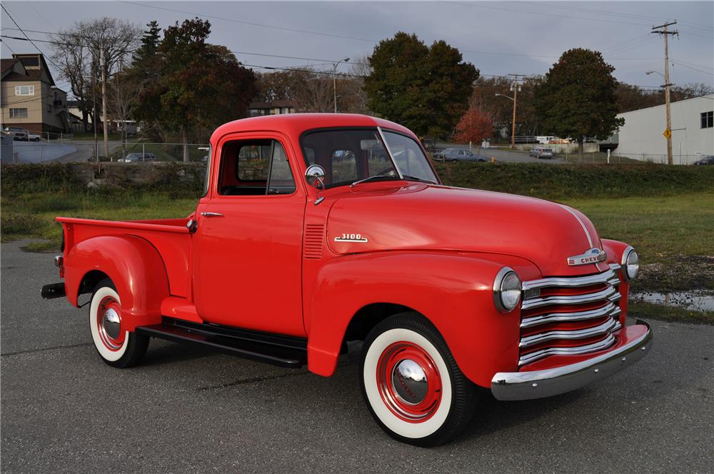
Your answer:
[[[619,271],[613,263],[594,275],[523,282],[518,365],[612,346],[622,328]]]

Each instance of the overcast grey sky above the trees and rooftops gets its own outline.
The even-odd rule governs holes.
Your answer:
[[[483,75],[543,74],[570,48],[603,52],[620,81],[658,87],[664,71],[662,36],[670,27],[671,82],[714,84],[714,1],[3,1],[21,29],[59,31],[75,21],[111,16],[166,27],[201,16],[211,21],[210,41],[228,46],[243,64],[297,67],[370,54],[396,31],[430,44],[443,39]],[[2,34],[22,36],[2,12]],[[299,31],[295,31],[299,30]],[[33,39],[44,33],[27,32]],[[36,51],[27,41],[2,39],[2,57]],[[46,54],[51,44],[36,43]],[[297,56],[288,59],[253,54]],[[52,66],[50,66],[52,68]],[[341,71],[348,71],[341,65]],[[255,67],[257,71],[262,71]],[[65,84],[59,84],[67,89]]]

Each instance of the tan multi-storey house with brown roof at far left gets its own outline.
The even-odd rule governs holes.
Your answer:
[[[42,54],[13,54],[2,59],[2,126],[35,133],[69,131],[67,93],[52,79]]]

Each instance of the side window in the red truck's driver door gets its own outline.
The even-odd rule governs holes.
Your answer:
[[[229,141],[221,150],[220,196],[292,194],[295,181],[288,157],[276,140]]]

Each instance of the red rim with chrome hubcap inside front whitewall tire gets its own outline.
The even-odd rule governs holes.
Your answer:
[[[388,346],[377,363],[377,387],[384,404],[398,418],[421,423],[441,403],[441,375],[429,354],[414,343]]]

